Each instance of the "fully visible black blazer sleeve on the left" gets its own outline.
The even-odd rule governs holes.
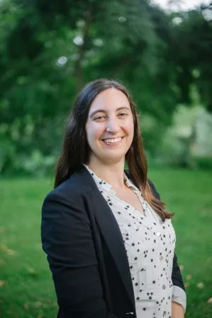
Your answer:
[[[116,318],[108,312],[89,218],[81,198],[52,191],[42,208],[41,238],[60,318]]]

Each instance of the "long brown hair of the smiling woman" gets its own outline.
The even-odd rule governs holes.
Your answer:
[[[69,114],[65,129],[62,153],[56,166],[55,187],[67,180],[76,172],[83,163],[89,159],[89,145],[87,143],[86,123],[89,109],[95,97],[109,88],[116,88],[123,92],[128,98],[134,121],[134,136],[125,160],[133,179],[143,192],[143,197],[150,204],[152,209],[164,219],[170,219],[173,214],[164,209],[164,203],[156,199],[147,181],[147,159],[140,136],[138,114],[135,111],[133,102],[128,89],[123,84],[113,79],[97,79],[89,82],[81,92],[79,92],[74,107]]]

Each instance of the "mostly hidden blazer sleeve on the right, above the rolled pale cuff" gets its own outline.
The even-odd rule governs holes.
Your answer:
[[[150,185],[150,187],[152,189],[152,193],[154,194],[154,196],[157,199],[160,199],[160,194],[155,189],[155,185],[153,184],[153,182],[150,181],[149,179],[148,179],[148,182],[149,182],[149,185]],[[174,253],[173,267],[172,267],[172,284],[174,286],[182,288],[182,290],[185,290],[184,282],[183,282],[183,279],[182,279],[182,274],[181,274],[181,271],[179,269],[179,265],[177,263],[177,256],[176,256],[175,253]]]

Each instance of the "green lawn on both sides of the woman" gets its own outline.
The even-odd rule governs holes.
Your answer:
[[[154,170],[173,218],[186,285],[186,318],[212,317],[212,173]],[[40,207],[51,180],[0,180],[0,317],[54,318],[57,302],[40,245]],[[210,302],[211,299],[211,302]]]

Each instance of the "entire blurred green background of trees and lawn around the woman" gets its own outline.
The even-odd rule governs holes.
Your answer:
[[[40,245],[64,123],[99,77],[130,90],[175,213],[186,317],[212,317],[212,2],[0,0],[0,317],[52,318]]]

